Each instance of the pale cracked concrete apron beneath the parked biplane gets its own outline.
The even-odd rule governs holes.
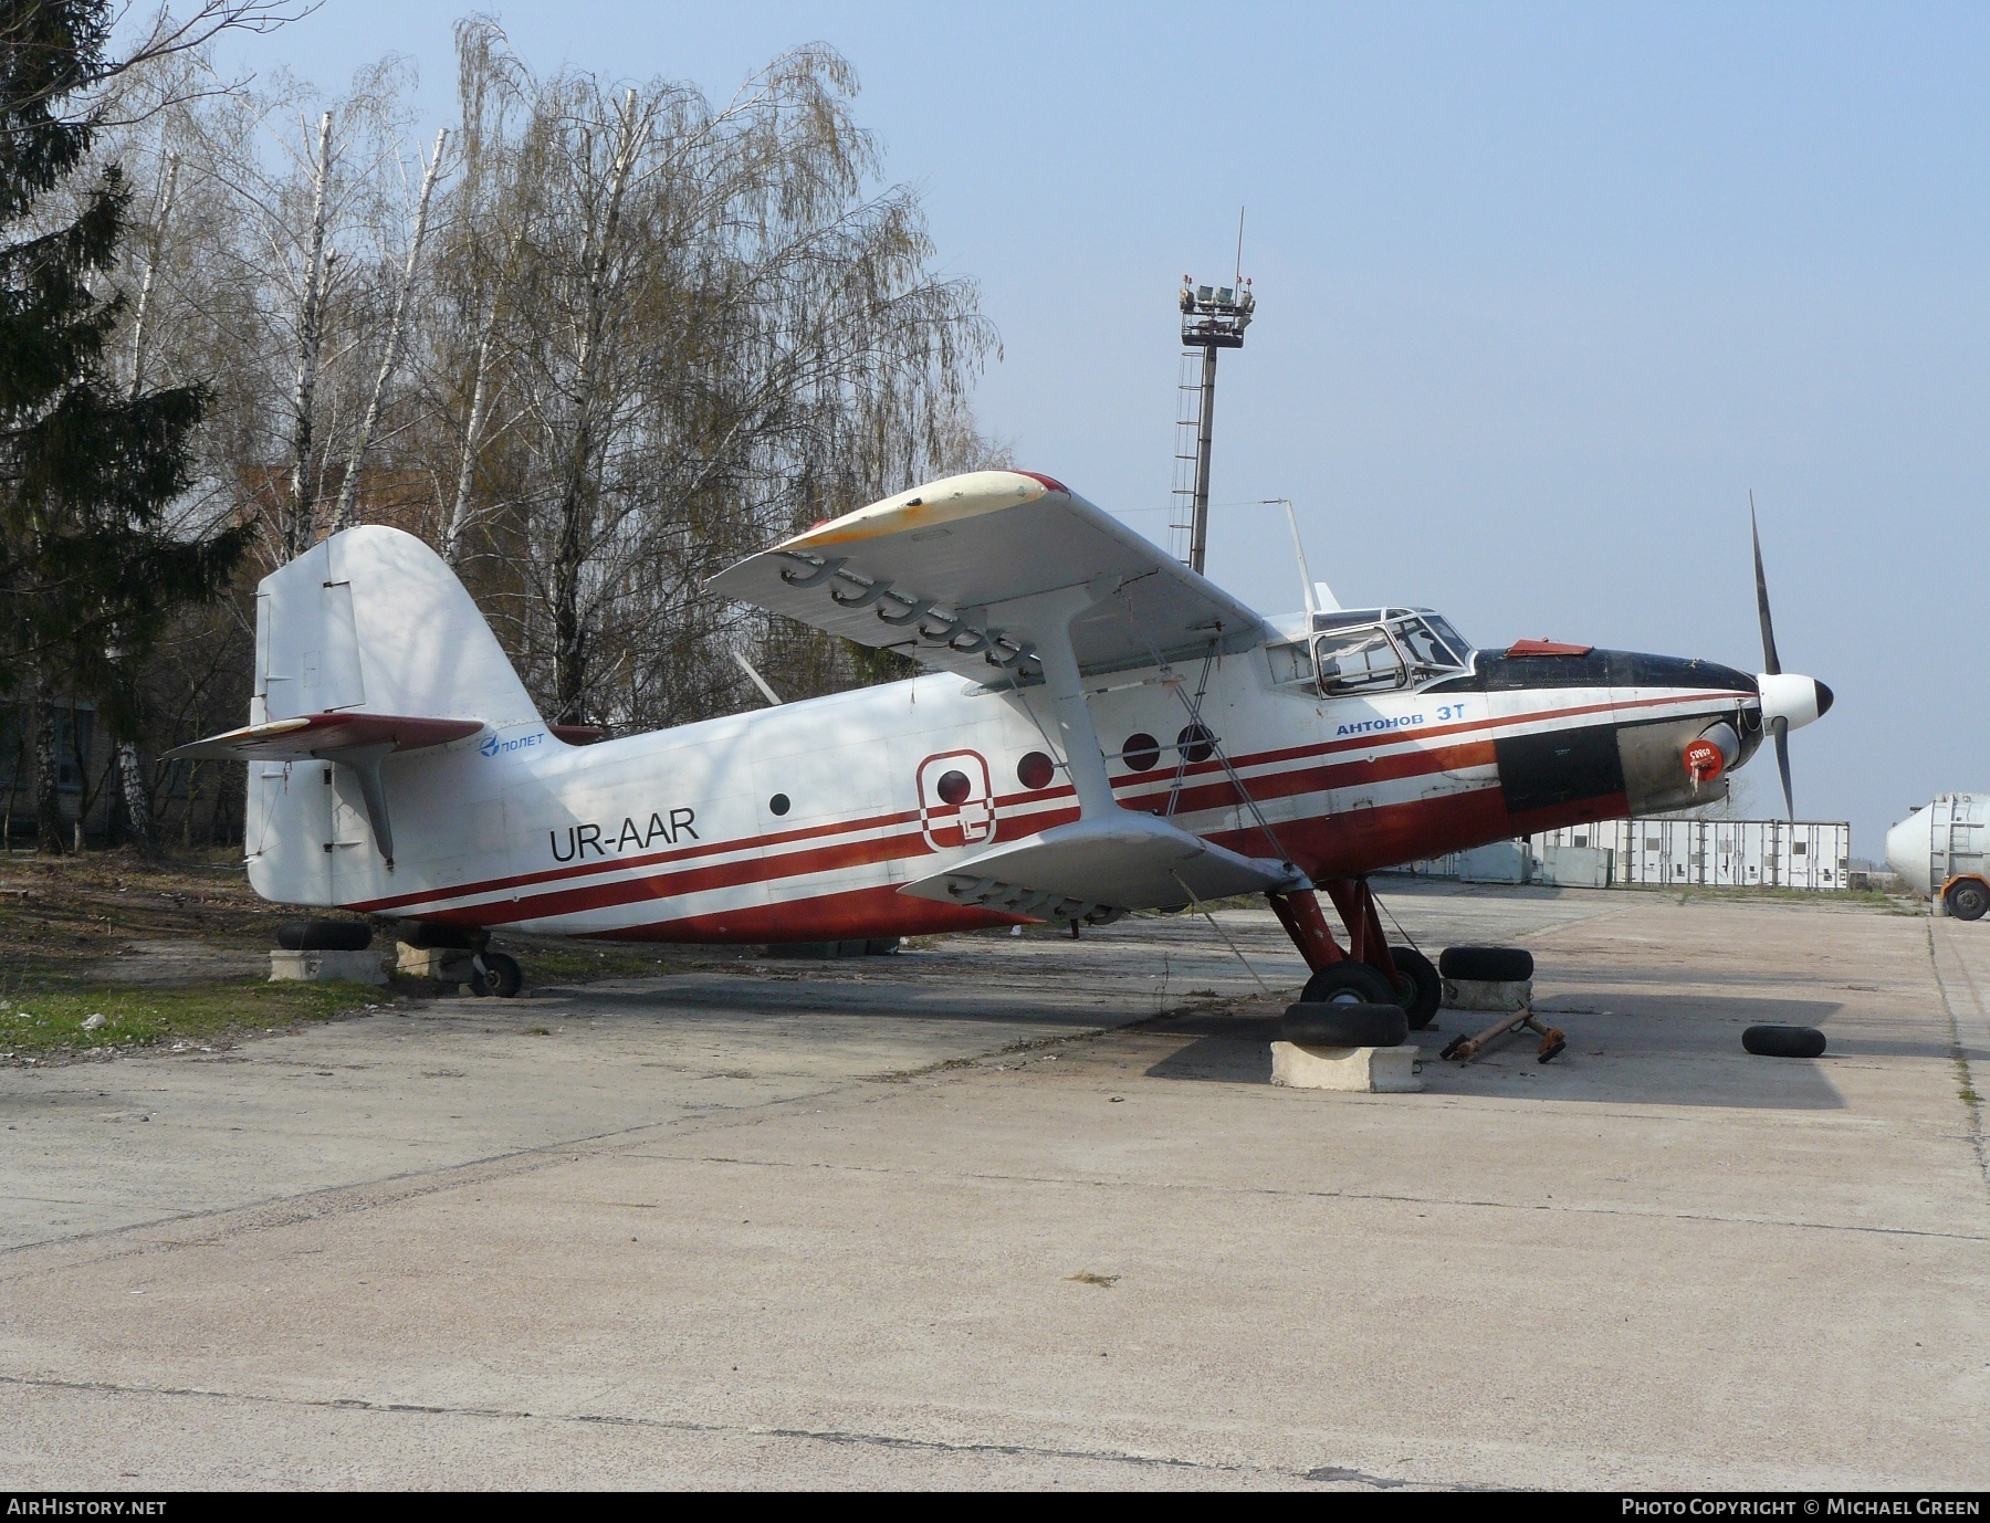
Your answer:
[[[1276,1022],[1180,923],[4,1072],[0,1225],[40,1247],[0,1255],[0,1469],[1990,1481],[1990,1185],[1928,927],[1594,899],[1524,938],[1568,1052],[1417,1032],[1415,1100],[1268,1084]],[[1393,907],[1439,946],[1449,903]],[[1220,998],[1100,1032],[1164,958]],[[1831,1052],[1749,1058],[1757,1020]]]

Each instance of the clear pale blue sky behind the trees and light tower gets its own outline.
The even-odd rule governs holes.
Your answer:
[[[336,89],[382,52],[450,111],[458,6],[326,0],[231,56]],[[985,427],[1164,537],[1184,272],[1260,296],[1224,358],[1210,571],[1755,670],[1839,706],[1797,807],[1990,789],[1990,8],[498,8],[539,72],[730,91],[856,66],[888,175],[981,280]],[[1773,765],[1751,803],[1779,809]]]

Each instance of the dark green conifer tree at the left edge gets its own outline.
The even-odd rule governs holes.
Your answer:
[[[247,527],[183,537],[201,386],[119,388],[105,340],[129,191],[82,177],[98,123],[62,107],[105,74],[105,0],[14,0],[0,18],[0,694],[34,680],[38,726],[60,690],[137,738],[133,674],[173,608],[215,596]],[[70,201],[54,195],[70,189]],[[60,207],[60,211],[56,209]],[[50,748],[38,744],[42,851],[62,851]],[[149,823],[149,821],[147,821]],[[139,831],[139,839],[151,839]]]

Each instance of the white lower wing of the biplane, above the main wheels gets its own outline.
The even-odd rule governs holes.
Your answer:
[[[1164,819],[1122,809],[983,851],[899,893],[1041,921],[1096,923],[1134,909],[1303,887],[1305,875],[1292,863],[1240,857]]]

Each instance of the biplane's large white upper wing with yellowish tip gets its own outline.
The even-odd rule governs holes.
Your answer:
[[[1059,481],[971,471],[818,523],[718,573],[710,587],[858,644],[987,682],[1035,676],[1003,628],[1013,598],[1091,585],[1071,620],[1081,672],[1248,650],[1264,620]]]

